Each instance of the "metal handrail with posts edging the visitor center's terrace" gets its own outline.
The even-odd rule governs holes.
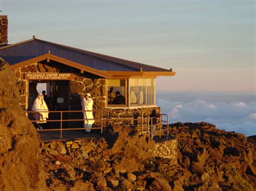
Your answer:
[[[93,112],[99,112],[100,111],[100,118],[94,118],[94,119],[63,119],[63,113],[69,112],[69,113],[74,113],[74,112],[87,112],[87,111],[93,111]],[[127,112],[126,110],[73,110],[73,111],[25,111],[26,114],[32,114],[32,113],[41,113],[41,112],[49,112],[49,113],[60,113],[60,119],[49,119],[47,122],[60,122],[60,128],[59,129],[44,129],[44,130],[37,130],[37,131],[60,131],[60,139],[62,139],[62,131],[66,130],[84,130],[84,128],[63,128],[63,122],[78,122],[78,121],[100,121],[100,127],[93,127],[93,128],[87,128],[87,129],[100,129],[101,133],[103,133],[103,123],[104,121],[125,121],[127,119],[133,119],[134,121],[141,122],[139,125],[142,125],[141,131],[142,133],[145,133],[146,129],[146,135],[151,136],[153,139],[153,134],[154,133],[159,133],[159,137],[161,138],[162,132],[167,131],[167,136],[169,136],[169,115],[167,114],[160,114],[158,117],[150,117],[150,116],[145,116],[143,111],[137,111],[137,110],[129,110],[130,112],[142,112],[141,116],[138,116],[137,118],[131,117],[121,117],[120,116],[109,116],[110,112]],[[104,117],[104,112],[107,112],[107,117]],[[163,117],[166,117],[166,121],[163,120]],[[152,124],[152,119],[153,118],[159,118],[159,122],[156,124]],[[144,122],[146,120],[146,123]],[[40,121],[40,120],[30,120],[31,122],[45,122],[45,121]],[[151,121],[151,125],[149,125],[149,122]],[[167,125],[167,129],[163,128],[163,123]],[[159,130],[158,130],[159,129]]]

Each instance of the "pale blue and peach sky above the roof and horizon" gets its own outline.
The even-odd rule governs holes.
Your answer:
[[[255,1],[0,0],[9,43],[52,41],[163,68],[157,90],[256,91]]]

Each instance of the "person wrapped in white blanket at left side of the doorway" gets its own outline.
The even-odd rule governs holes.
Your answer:
[[[36,128],[43,129],[42,124],[46,123],[46,119],[48,119],[49,115],[49,110],[44,101],[43,94],[37,94],[37,98],[33,102],[32,111],[37,111],[33,113],[33,116],[36,120]]]

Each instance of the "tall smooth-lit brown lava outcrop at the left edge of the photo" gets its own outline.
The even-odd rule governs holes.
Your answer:
[[[45,189],[39,138],[19,105],[16,77],[0,59],[0,190]]]

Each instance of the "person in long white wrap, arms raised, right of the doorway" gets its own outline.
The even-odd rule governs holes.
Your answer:
[[[93,100],[91,98],[90,93],[86,93],[84,97],[82,98],[82,110],[84,115],[84,128],[86,133],[91,132],[92,124],[95,122],[93,119],[93,113],[92,113],[92,106],[93,106]]]

